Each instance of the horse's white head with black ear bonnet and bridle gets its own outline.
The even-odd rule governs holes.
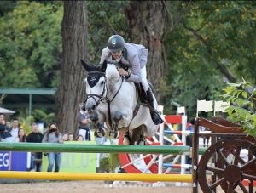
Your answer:
[[[82,107],[89,113],[93,113],[96,110],[96,106],[100,101],[106,97],[106,76],[105,71],[107,68],[107,62],[105,61],[100,65],[89,65],[81,60],[84,69],[88,71],[88,77],[85,78],[86,82],[86,103]]]

